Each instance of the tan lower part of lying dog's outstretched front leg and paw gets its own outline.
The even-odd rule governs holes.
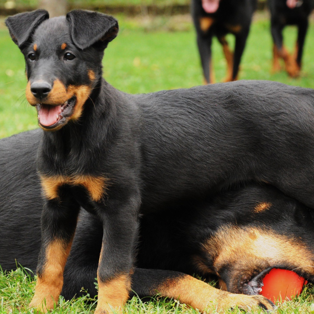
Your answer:
[[[157,292],[180,300],[181,303],[206,313],[216,309],[222,310],[236,306],[248,310],[258,307],[259,302],[263,303],[268,309],[272,309],[267,299],[261,295],[232,294],[213,288],[209,284],[189,275],[180,279],[168,279],[157,288]]]

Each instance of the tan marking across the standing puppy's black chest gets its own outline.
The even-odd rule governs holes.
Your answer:
[[[62,185],[80,185],[85,187],[89,192],[91,199],[95,202],[99,202],[106,193],[106,189],[109,186],[109,179],[102,176],[88,176],[88,175],[76,175],[76,176],[41,176],[41,186],[43,188],[44,195],[47,199],[58,198],[58,190]]]

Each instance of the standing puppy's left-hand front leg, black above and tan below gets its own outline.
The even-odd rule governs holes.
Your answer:
[[[63,270],[71,249],[79,206],[73,199],[47,200],[41,216],[42,243],[35,295],[30,307],[46,312],[57,303]]]

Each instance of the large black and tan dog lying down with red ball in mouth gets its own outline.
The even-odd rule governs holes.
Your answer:
[[[35,152],[42,132],[0,140],[0,265],[6,270],[16,267],[15,259],[33,270],[37,265],[43,200]],[[174,204],[140,219],[132,290],[141,297],[160,293],[204,310],[211,288],[188,274],[219,279],[223,289],[245,295],[258,295],[263,276],[274,267],[293,269],[313,281],[313,232],[313,212],[265,184]],[[64,271],[66,299],[81,295],[82,287],[97,295],[102,238],[100,221],[82,209]],[[249,305],[232,304],[236,299],[228,306]]]

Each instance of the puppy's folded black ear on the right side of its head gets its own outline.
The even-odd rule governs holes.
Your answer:
[[[99,43],[105,49],[108,42],[116,38],[118,21],[106,14],[86,10],[73,10],[67,14],[74,44],[86,49]]]

